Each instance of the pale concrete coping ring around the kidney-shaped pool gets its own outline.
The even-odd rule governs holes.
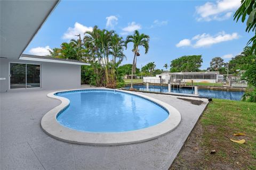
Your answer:
[[[47,94],[47,97],[58,99],[61,101],[61,104],[51,109],[47,112],[41,120],[41,128],[43,131],[50,135],[51,137],[69,143],[76,143],[81,145],[92,145],[92,146],[117,146],[117,145],[127,145],[131,143],[145,142],[148,140],[156,139],[173,131],[179,123],[181,122],[181,115],[177,109],[173,106],[164,103],[163,101],[151,98],[145,95],[137,94],[131,91],[122,91],[127,94],[133,94],[140,96],[155,103],[163,106],[169,112],[169,116],[161,123],[150,126],[148,128],[126,131],[126,132],[85,132],[77,131],[66,126],[61,125],[57,121],[57,115],[66,107],[68,107],[70,101],[65,97],[55,96],[54,94],[58,92],[66,91],[76,91],[76,90],[97,90],[93,89],[74,89],[74,90],[61,90],[51,92]],[[99,90],[99,89],[98,89]],[[104,90],[104,89],[101,89]],[[114,89],[106,89],[113,90]]]

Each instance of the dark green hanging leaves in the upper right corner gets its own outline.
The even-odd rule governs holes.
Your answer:
[[[242,0],[241,6],[238,8],[236,13],[234,14],[234,20],[236,22],[239,20],[239,18],[242,16],[241,21],[244,22],[246,19],[246,15],[248,15],[247,21],[246,21],[246,32],[255,32],[256,27],[256,1],[255,0]],[[247,45],[252,43],[252,50],[256,47],[256,32],[255,35],[248,41]]]

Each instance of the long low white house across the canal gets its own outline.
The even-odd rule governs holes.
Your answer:
[[[218,71],[213,72],[164,72],[156,77],[143,77],[143,82],[169,83],[169,82],[218,82]]]

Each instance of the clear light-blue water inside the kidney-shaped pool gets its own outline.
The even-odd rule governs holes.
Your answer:
[[[83,90],[55,94],[70,100],[57,116],[68,128],[89,132],[123,132],[164,121],[166,109],[144,98],[113,90]]]

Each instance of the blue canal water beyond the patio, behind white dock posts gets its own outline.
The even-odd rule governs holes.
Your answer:
[[[126,87],[127,89],[130,88]],[[133,86],[134,89],[146,91],[146,86]],[[167,86],[149,86],[149,91],[153,92],[168,92]],[[194,94],[194,90],[189,88],[172,88],[171,92],[178,92],[182,94]],[[210,90],[210,89],[198,89],[198,95],[207,98],[219,98],[228,100],[241,100],[244,92],[242,91],[222,91],[222,90]]]

